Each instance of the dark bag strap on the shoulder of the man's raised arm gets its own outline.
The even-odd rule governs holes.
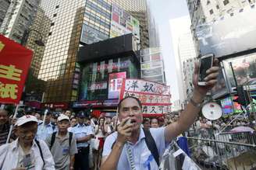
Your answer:
[[[151,135],[150,130],[146,130],[143,128],[144,134],[145,134],[145,141],[148,146],[149,151],[151,151],[151,154],[155,158],[156,163],[158,164],[158,167],[160,165],[159,162],[159,154],[158,154],[158,147],[156,147],[155,140]]]

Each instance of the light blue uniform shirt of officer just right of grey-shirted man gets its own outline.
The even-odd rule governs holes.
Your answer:
[[[70,132],[75,134],[76,139],[93,134],[91,126],[85,126],[84,124],[77,124],[76,127],[70,128]],[[87,147],[88,145],[88,142],[76,143],[77,147]]]

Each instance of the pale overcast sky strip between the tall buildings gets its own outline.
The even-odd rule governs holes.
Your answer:
[[[188,16],[186,0],[148,0],[153,16],[159,27],[160,42],[165,62],[167,85],[171,87],[172,102],[179,99],[178,82],[174,50],[172,49],[172,34],[169,20]]]

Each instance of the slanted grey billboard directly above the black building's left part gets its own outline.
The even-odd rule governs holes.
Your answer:
[[[91,26],[87,26],[85,23],[83,24],[80,42],[91,44],[91,43],[97,43],[98,41],[107,40],[107,39],[108,39],[108,35],[101,33],[100,31],[92,28]]]

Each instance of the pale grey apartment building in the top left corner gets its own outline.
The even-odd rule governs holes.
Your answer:
[[[21,43],[24,33],[29,32],[40,0],[13,0],[0,27],[0,33]]]

